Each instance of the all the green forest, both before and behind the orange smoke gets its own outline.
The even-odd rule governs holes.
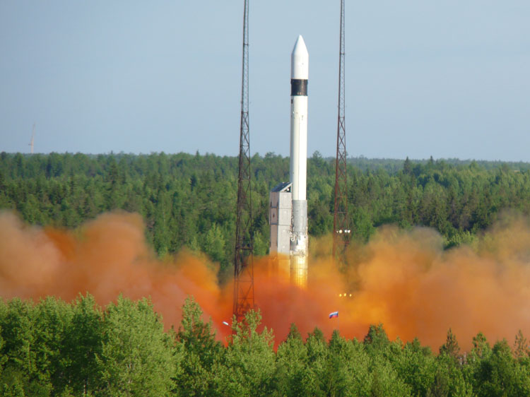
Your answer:
[[[269,191],[288,180],[289,159],[252,158],[254,254],[269,249]],[[333,225],[334,159],[307,164],[312,238]],[[149,155],[0,153],[0,209],[25,223],[75,229],[109,211],[139,213],[160,259],[186,248],[230,276],[235,237],[237,158],[206,153]],[[461,160],[348,159],[353,243],[377,227],[431,227],[444,249],[472,244],[503,211],[530,214],[530,164]],[[219,341],[189,297],[167,329],[146,299],[118,297],[100,307],[74,302],[0,301],[3,396],[530,396],[529,344],[490,345],[482,333],[462,351],[449,328],[437,351],[420,340],[389,340],[384,324],[364,338],[319,328],[285,340],[259,312],[232,323]],[[470,345],[466,340],[466,345]]]

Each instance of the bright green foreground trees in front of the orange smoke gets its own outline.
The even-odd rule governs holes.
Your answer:
[[[2,396],[529,396],[530,357],[519,333],[463,353],[449,329],[438,354],[381,325],[363,340],[293,324],[275,348],[259,312],[232,324],[225,344],[188,298],[164,331],[146,299],[102,309],[90,295],[66,303],[0,301]]]

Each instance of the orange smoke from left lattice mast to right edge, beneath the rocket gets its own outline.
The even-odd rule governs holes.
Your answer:
[[[473,247],[449,250],[434,230],[382,227],[365,246],[351,247],[351,265],[342,271],[331,261],[331,244],[330,237],[311,242],[307,290],[271,277],[259,263],[257,304],[277,340],[292,322],[302,335],[319,326],[328,337],[339,328],[360,339],[370,324],[382,323],[391,339],[418,337],[434,351],[449,328],[464,349],[479,331],[493,342],[530,331],[528,220],[505,215]],[[329,319],[336,310],[338,319]]]

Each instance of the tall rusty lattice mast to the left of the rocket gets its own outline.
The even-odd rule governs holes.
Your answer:
[[[237,321],[254,309],[254,263],[252,257],[252,205],[250,202],[249,131],[249,1],[243,13],[243,72],[241,87],[241,129],[237,215],[234,257],[234,315]]]

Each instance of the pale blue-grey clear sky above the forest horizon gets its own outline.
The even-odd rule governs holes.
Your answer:
[[[249,5],[251,154],[289,155],[290,52],[310,53],[307,151],[336,152],[339,0]],[[0,151],[239,151],[243,0],[0,1]],[[530,161],[530,1],[346,0],[346,149]]]

